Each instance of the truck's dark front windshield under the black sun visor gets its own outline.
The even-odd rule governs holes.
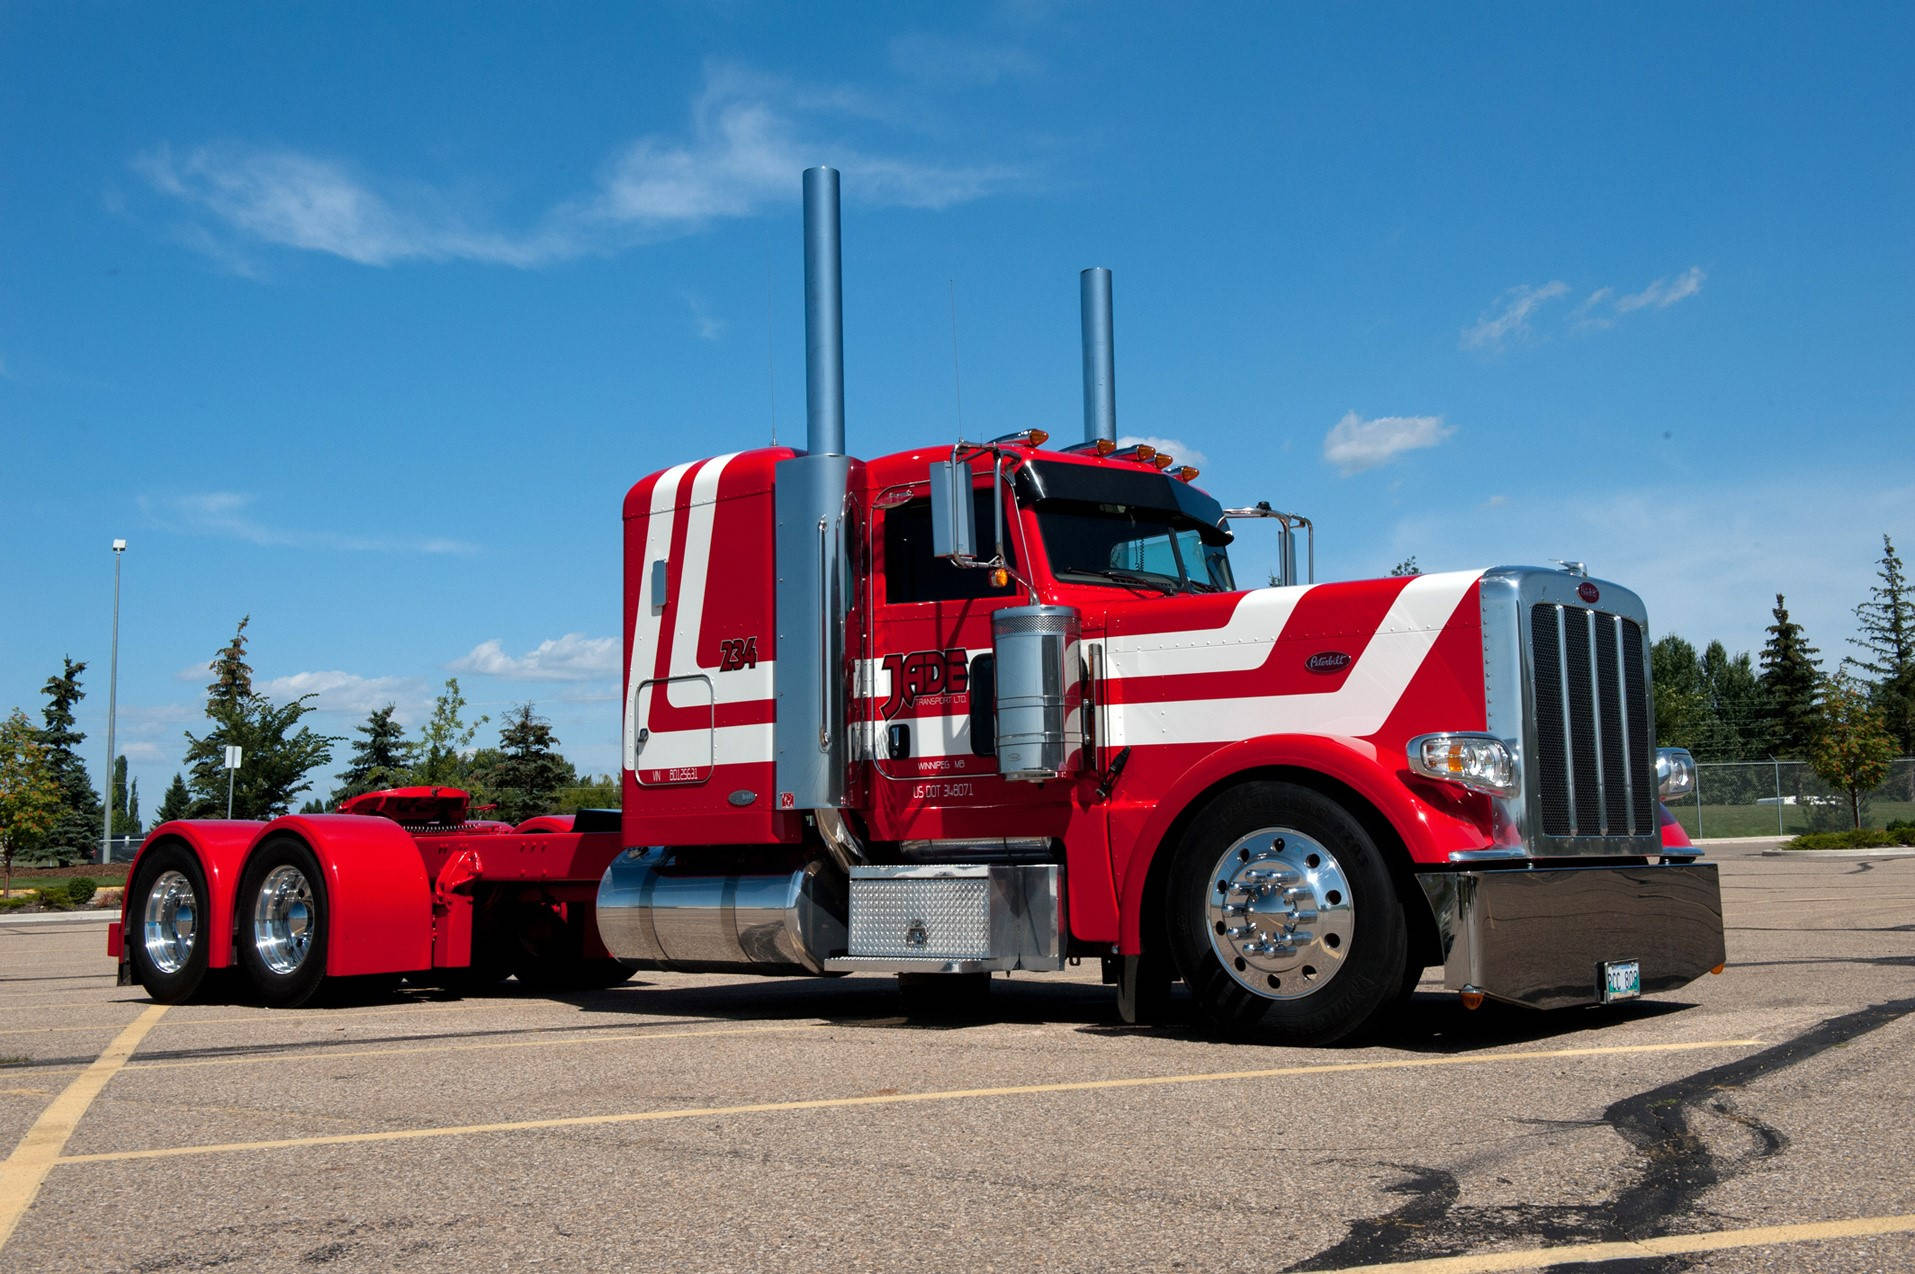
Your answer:
[[[1048,504],[1038,508],[1051,575],[1069,580],[1231,592],[1224,535],[1168,510],[1130,504]]]

